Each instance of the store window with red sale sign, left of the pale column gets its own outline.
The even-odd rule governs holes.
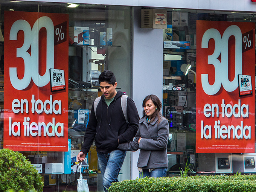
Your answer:
[[[99,74],[113,71],[117,88],[131,93],[131,8],[69,5],[0,2],[1,149],[38,166],[44,191],[76,190]],[[90,191],[103,191],[94,143],[82,172]]]

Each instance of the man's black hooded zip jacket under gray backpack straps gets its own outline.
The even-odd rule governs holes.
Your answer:
[[[121,107],[121,96],[123,94],[122,91],[117,91],[114,100],[109,106],[105,102],[105,96],[101,96],[101,100],[96,108],[98,121],[92,105],[84,136],[84,145],[81,150],[84,154],[88,153],[94,139],[97,152],[109,153],[117,150],[119,143],[133,140],[133,137],[135,137],[138,130],[139,114],[134,101],[128,97],[127,117],[129,123],[126,123]]]

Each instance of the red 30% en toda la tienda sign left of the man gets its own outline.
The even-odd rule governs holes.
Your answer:
[[[5,11],[4,148],[67,151],[68,18]]]

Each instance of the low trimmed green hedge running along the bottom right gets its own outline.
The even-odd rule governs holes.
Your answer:
[[[137,178],[113,183],[108,192],[251,192],[256,175]]]

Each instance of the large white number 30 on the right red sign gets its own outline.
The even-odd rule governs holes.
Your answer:
[[[235,36],[235,78],[229,81],[228,74],[228,51],[229,37]],[[215,41],[215,50],[212,55],[208,56],[208,65],[213,65],[215,69],[215,81],[213,85],[209,84],[208,75],[201,74],[202,87],[206,94],[214,95],[218,93],[221,85],[223,88],[232,92],[238,88],[238,74],[242,74],[242,32],[236,25],[227,27],[222,38],[217,29],[208,29],[202,38],[202,48],[208,48],[209,40],[213,38]],[[221,55],[221,62],[218,57]]]

